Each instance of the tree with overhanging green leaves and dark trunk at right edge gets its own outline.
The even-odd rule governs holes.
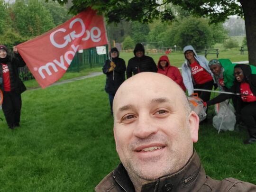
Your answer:
[[[109,22],[126,18],[147,23],[155,18],[174,20],[174,12],[167,6],[170,3],[193,15],[209,17],[211,23],[224,22],[231,15],[244,17],[249,62],[256,65],[256,0],[73,0],[71,11],[77,13],[92,7],[104,13]]]

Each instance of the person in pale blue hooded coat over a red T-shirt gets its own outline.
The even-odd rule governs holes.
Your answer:
[[[209,62],[204,56],[197,55],[192,46],[185,46],[183,53],[185,63],[182,65],[182,77],[188,95],[195,92],[203,101],[209,101],[210,92],[194,91],[194,89],[212,90],[214,81],[213,74],[208,66]]]

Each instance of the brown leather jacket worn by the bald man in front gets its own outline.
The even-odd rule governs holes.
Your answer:
[[[99,183],[95,192],[135,192],[122,164]],[[256,185],[234,178],[222,181],[205,174],[200,158],[194,151],[188,163],[178,172],[146,182],[141,192],[256,192]]]

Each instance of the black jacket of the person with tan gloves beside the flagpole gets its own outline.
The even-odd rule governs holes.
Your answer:
[[[103,73],[107,75],[105,91],[115,95],[119,86],[125,81],[125,61],[119,57],[112,58],[116,64],[114,71],[108,72],[110,69],[110,60],[106,60],[102,68]]]

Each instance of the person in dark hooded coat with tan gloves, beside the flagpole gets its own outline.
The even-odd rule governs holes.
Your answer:
[[[125,81],[126,71],[125,61],[119,58],[119,51],[116,47],[111,49],[110,59],[105,61],[102,71],[107,76],[105,91],[109,94],[110,109],[113,114],[113,99],[119,86]]]

